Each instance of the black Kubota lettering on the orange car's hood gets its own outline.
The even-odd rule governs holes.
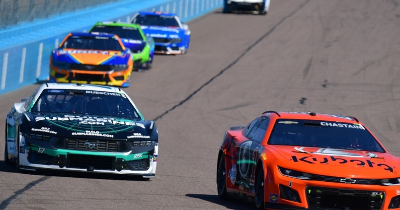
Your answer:
[[[357,166],[363,166],[363,167],[380,167],[383,168],[385,171],[390,171],[393,172],[393,168],[384,164],[384,163],[375,163],[372,160],[360,160],[360,159],[344,159],[344,158],[337,158],[335,156],[329,156],[329,157],[324,157],[324,158],[318,158],[315,156],[305,156],[301,158],[297,158],[296,156],[292,156],[291,160],[295,163],[297,162],[302,162],[302,163],[308,163],[308,164],[329,164],[329,162],[336,162],[339,164],[355,164]]]

